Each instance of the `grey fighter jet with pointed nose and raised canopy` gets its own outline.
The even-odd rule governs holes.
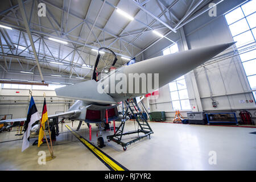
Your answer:
[[[77,130],[82,122],[97,123],[100,129],[107,120],[126,121],[129,118],[123,118],[123,115],[118,114],[118,102],[151,93],[156,89],[152,85],[157,85],[158,88],[161,88],[199,67],[233,44],[218,44],[216,46],[196,48],[154,57],[135,64],[112,69],[106,74],[102,73],[99,80],[96,79],[94,74],[92,80],[57,88],[55,89],[57,97],[71,98],[77,101],[67,112],[49,115],[48,118],[78,120],[80,123]],[[98,50],[99,56],[100,49]],[[146,75],[146,80],[143,80],[144,75]],[[135,82],[136,79],[137,82]],[[122,83],[120,83],[121,80]],[[117,88],[119,90],[116,90]],[[108,117],[106,117],[106,111],[108,112]],[[26,121],[26,118],[7,119],[0,121],[0,123],[20,121]],[[31,133],[37,133],[38,129],[39,125],[35,125],[31,129]],[[102,143],[99,146],[102,146]]]

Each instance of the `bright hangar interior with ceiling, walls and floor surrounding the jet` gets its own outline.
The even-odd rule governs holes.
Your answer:
[[[162,122],[148,119],[154,131],[151,139],[135,142],[126,151],[110,141],[102,150],[131,170],[255,170],[255,16],[255,0],[3,0],[0,117],[26,118],[30,90],[39,114],[44,93],[48,115],[68,111],[75,100],[57,97],[55,89],[91,80],[100,47],[115,53],[119,68],[130,60],[139,63],[236,42],[159,88],[155,96],[151,93],[141,98],[138,105],[142,111],[165,115]],[[108,53],[102,53],[97,71],[110,67],[112,61]],[[175,123],[178,110],[188,122],[188,113],[208,114],[208,121],[205,119],[204,125]],[[240,115],[245,110],[250,122]],[[122,104],[118,111],[122,112]],[[235,113],[236,117],[232,123],[226,118],[216,126],[209,123],[211,113],[220,117]],[[65,123],[74,130],[79,124]],[[126,129],[134,129],[135,124],[132,119],[127,121]],[[55,170],[61,166],[63,170],[108,170],[63,125],[59,127],[61,134],[53,145],[56,159],[46,165],[37,163],[38,151],[48,150],[46,144],[43,149],[31,146],[21,152],[22,136],[15,136],[16,127],[0,133],[0,169]],[[86,125],[77,133],[89,139]],[[110,133],[113,131],[103,135]],[[97,127],[92,124],[93,143],[97,143],[96,134]],[[209,164],[210,151],[216,151],[217,164]],[[67,155],[69,159],[64,160]],[[138,166],[133,165],[136,162]]]

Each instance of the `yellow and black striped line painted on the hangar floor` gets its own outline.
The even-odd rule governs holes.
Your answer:
[[[121,164],[119,164],[117,161],[115,161],[113,158],[111,158],[108,154],[106,154],[104,151],[100,150],[100,148],[94,146],[92,143],[90,143],[88,140],[83,138],[81,135],[77,134],[75,131],[71,129],[68,125],[65,125],[69,131],[77,139],[80,140],[82,144],[86,148],[88,148],[102,163],[105,164],[106,167],[108,167],[111,171],[129,171],[129,169],[123,167]]]

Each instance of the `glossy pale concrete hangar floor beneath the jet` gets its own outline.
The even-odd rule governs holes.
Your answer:
[[[72,126],[72,123],[67,123]],[[76,129],[78,122],[73,123]],[[96,144],[95,125],[92,125],[92,143]],[[182,125],[150,122],[154,131],[151,139],[142,139],[131,144],[126,151],[114,142],[106,142],[102,151],[130,170],[255,170],[256,131],[255,128]],[[134,130],[133,121],[126,123],[126,130]],[[53,146],[56,159],[38,164],[38,152],[46,151],[29,147],[21,152],[22,140],[15,131],[0,133],[0,170],[109,170],[71,133],[63,130]],[[61,125],[60,125],[61,132]],[[82,125],[78,132],[89,139],[89,130]],[[104,132],[104,136],[113,131]],[[130,136],[130,138],[136,137]],[[31,144],[36,138],[31,138]],[[126,138],[129,139],[129,138]],[[209,152],[216,152],[217,164],[210,165]]]

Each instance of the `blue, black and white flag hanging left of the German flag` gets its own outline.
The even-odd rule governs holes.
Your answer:
[[[40,115],[38,113],[38,109],[36,109],[36,105],[34,102],[33,97],[31,96],[30,100],[30,107],[28,107],[27,112],[27,120],[24,126],[24,135],[23,135],[23,142],[22,142],[22,152],[30,146],[30,130],[32,125],[40,120]]]

